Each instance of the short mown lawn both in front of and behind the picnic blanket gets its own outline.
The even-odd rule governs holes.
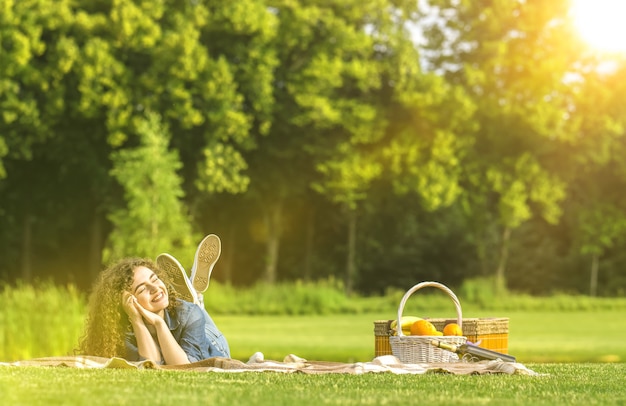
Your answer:
[[[503,316],[464,312],[466,317]],[[429,314],[450,317],[450,314]],[[369,361],[390,314],[215,316],[232,357]],[[509,352],[540,376],[304,375],[0,367],[6,405],[624,405],[620,311],[507,312]],[[61,354],[50,354],[61,355]],[[9,360],[2,360],[9,361]]]

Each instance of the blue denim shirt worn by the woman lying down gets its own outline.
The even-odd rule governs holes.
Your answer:
[[[194,303],[179,300],[172,310],[166,309],[163,316],[172,336],[187,354],[189,362],[212,357],[230,358],[226,337],[218,330],[206,310]],[[126,359],[143,361],[139,356],[135,333],[126,333]]]

